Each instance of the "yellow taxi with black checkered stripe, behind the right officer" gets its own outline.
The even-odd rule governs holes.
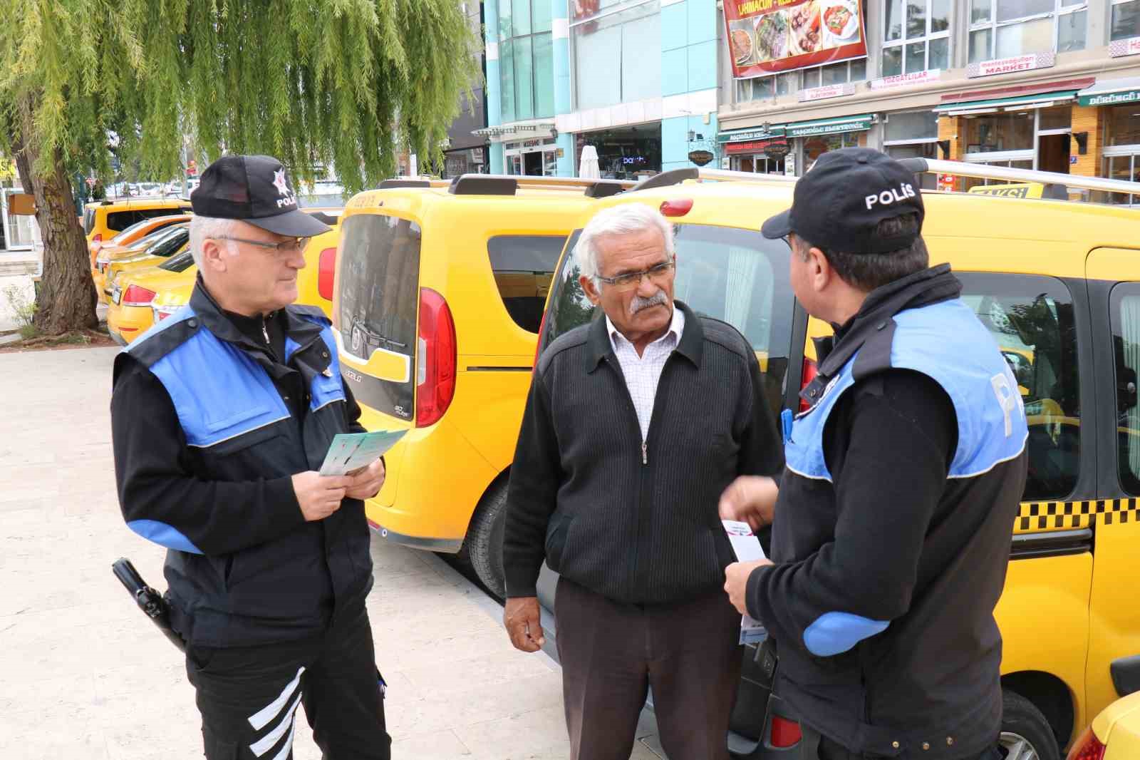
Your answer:
[[[910,161],[915,171],[999,181],[1011,171]],[[1112,192],[1109,180],[1044,172],[1013,180]],[[1137,184],[1112,186],[1140,192]],[[788,246],[759,233],[764,219],[791,205],[792,187],[782,178],[691,169],[597,204],[646,203],[670,218],[676,298],[752,343],[776,415],[798,406],[814,374],[809,338],[830,332],[795,302]],[[930,261],[953,266],[962,300],[1015,369],[1029,422],[1028,478],[996,609],[1004,639],[1001,743],[1009,758],[1059,760],[1081,727],[1124,693],[1121,684],[1140,678],[1140,605],[1131,596],[1140,558],[1140,211],[977,193],[923,197]],[[554,274],[540,349],[595,316],[570,254],[577,235]],[[538,593],[548,609],[553,583],[544,569]],[[764,682],[746,656],[732,754],[797,757],[796,717]]]

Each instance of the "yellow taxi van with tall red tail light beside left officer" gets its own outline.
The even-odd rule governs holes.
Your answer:
[[[503,592],[500,520],[551,274],[613,180],[388,180],[341,220],[333,325],[370,430],[407,430],[367,502],[388,540]]]

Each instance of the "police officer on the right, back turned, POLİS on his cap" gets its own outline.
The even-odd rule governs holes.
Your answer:
[[[1025,411],[948,265],[928,268],[914,177],[877,151],[825,153],[766,237],[831,323],[811,409],[784,418],[779,479],[744,476],[723,517],[772,522],[772,557],[725,571],[766,625],[804,759],[994,760],[993,611],[1025,484]],[[774,519],[773,519],[774,512]]]

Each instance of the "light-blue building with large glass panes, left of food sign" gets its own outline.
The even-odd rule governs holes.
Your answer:
[[[602,177],[637,179],[719,149],[716,0],[497,0],[484,17],[491,173],[576,176],[591,145]]]

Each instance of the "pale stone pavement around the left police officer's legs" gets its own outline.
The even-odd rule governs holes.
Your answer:
[[[108,412],[114,355],[0,355],[5,760],[201,757],[182,657],[111,574],[125,556],[164,585],[163,551],[130,533],[119,512]],[[494,603],[439,558],[375,539],[368,609],[389,681],[392,757],[569,757],[557,665],[514,650]],[[320,757],[303,720],[294,757]],[[658,755],[638,742],[632,757]]]

